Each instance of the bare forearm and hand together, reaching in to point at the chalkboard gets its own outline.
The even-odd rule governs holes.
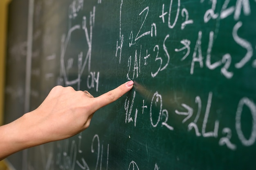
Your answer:
[[[133,81],[128,81],[95,98],[72,87],[54,87],[36,110],[0,126],[0,160],[19,150],[76,135],[88,128],[95,111],[132,87]]]

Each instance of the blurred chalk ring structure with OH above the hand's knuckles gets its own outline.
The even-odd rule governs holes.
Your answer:
[[[83,9],[83,0],[74,0],[72,4],[70,5],[70,10],[72,15],[70,14],[70,18],[73,19],[73,17],[77,16],[77,12]],[[88,77],[87,77],[87,87],[89,89],[91,88],[96,88],[96,91],[98,91],[99,87],[99,72],[91,72],[91,58],[92,58],[92,31],[93,31],[93,26],[95,22],[95,6],[93,7],[92,11],[90,11],[90,26],[87,26],[87,17],[83,16],[83,20],[81,21],[80,24],[76,24],[72,26],[67,35],[63,35],[61,39],[61,75],[63,76],[64,79],[64,84],[65,85],[74,85],[77,84],[77,89],[79,90],[81,87],[81,76],[85,70],[85,66],[88,66]],[[74,67],[74,58],[68,58],[66,56],[66,52],[69,49],[68,44],[71,41],[72,33],[83,29],[85,33],[85,38],[86,38],[86,44],[88,47],[85,59],[84,59],[84,54],[83,51],[79,52],[78,57],[77,57],[77,67],[78,67],[78,72],[77,72],[77,78],[73,80],[69,80],[69,70]],[[66,59],[67,58],[67,59]],[[84,60],[83,60],[84,59]],[[67,63],[65,64],[65,60],[67,60]]]

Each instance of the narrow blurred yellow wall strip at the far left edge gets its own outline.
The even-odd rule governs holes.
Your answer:
[[[7,4],[10,0],[0,0],[0,125],[4,110],[4,72],[7,35]]]

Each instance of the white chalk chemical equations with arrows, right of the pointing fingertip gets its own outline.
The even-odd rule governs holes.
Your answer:
[[[175,3],[175,5],[174,5]],[[251,15],[251,5],[249,0],[236,0],[235,5],[230,5],[230,0],[225,0],[224,2],[217,2],[217,0],[201,0],[200,3],[208,3],[211,4],[209,9],[206,9],[204,15],[202,16],[202,20],[205,24],[212,22],[213,20],[225,20],[227,17],[229,17],[231,14],[234,14],[234,20],[238,20],[236,24],[232,26],[232,29],[230,31],[230,35],[238,46],[245,49],[244,56],[240,56],[239,61],[234,61],[232,58],[232,55],[229,51],[224,52],[219,59],[217,59],[215,56],[213,56],[213,48],[215,45],[216,37],[218,35],[218,31],[216,30],[209,30],[207,32],[199,30],[197,32],[197,39],[195,42],[192,42],[189,37],[184,37],[180,40],[180,44],[182,46],[176,46],[174,51],[177,52],[178,56],[180,56],[180,61],[185,62],[187,60],[190,60],[190,74],[195,75],[198,73],[199,69],[207,68],[209,70],[217,70],[219,69],[220,76],[224,76],[227,79],[231,79],[235,76],[236,70],[234,69],[242,69],[247,65],[249,62],[252,62],[252,68],[254,68],[254,62],[253,60],[253,52],[254,48],[252,45],[252,42],[248,41],[246,38],[243,38],[243,35],[240,35],[240,29],[243,28],[243,22],[239,21],[240,16],[243,14],[245,16]],[[221,4],[221,9],[217,9],[217,6]],[[177,27],[177,24],[180,24],[180,30],[189,29],[189,26],[192,26],[194,24],[193,18],[189,15],[189,10],[186,9],[184,6],[181,5],[182,2],[180,0],[174,1],[170,0],[170,4],[168,6],[168,10],[166,11],[166,4],[161,5],[161,13],[157,15],[157,17],[162,21],[163,25],[166,23],[166,16],[168,16],[168,23],[166,24],[168,28],[174,29]],[[122,49],[124,48],[124,44],[128,44],[128,47],[134,51],[132,55],[127,57],[128,61],[128,72],[126,74],[126,78],[128,80],[133,80],[140,78],[141,70],[144,69],[144,67],[147,67],[149,64],[155,65],[154,68],[147,67],[148,71],[151,72],[151,77],[155,78],[159,75],[159,72],[165,71],[166,69],[172,68],[172,65],[170,65],[171,61],[171,50],[168,48],[171,47],[171,45],[168,43],[169,39],[171,39],[171,35],[169,33],[166,33],[165,38],[163,39],[162,44],[154,44],[152,51],[150,51],[148,48],[145,48],[143,44],[138,45],[137,41],[140,39],[153,39],[153,35],[157,37],[157,30],[162,26],[159,24],[156,24],[157,22],[150,21],[151,24],[151,31],[150,31],[150,24],[146,22],[148,20],[148,17],[151,17],[150,13],[150,7],[145,6],[141,9],[141,11],[138,13],[137,17],[140,18],[141,24],[139,25],[138,31],[131,30],[130,34],[127,35],[126,38],[124,38],[124,34],[122,33],[122,23],[121,23],[121,13],[122,8],[124,6],[124,2],[121,1],[120,5],[120,13],[119,13],[119,40],[117,41],[117,48],[116,48],[116,57],[117,54],[119,54],[119,63],[121,62],[121,56],[122,56]],[[218,11],[219,10],[219,11]],[[143,14],[143,15],[142,15]],[[141,16],[143,16],[141,18]],[[179,20],[183,20],[180,22]],[[147,23],[147,24],[146,24]],[[154,31],[155,32],[154,32]],[[148,36],[151,35],[151,36]],[[202,41],[205,39],[205,37],[208,38],[208,43],[203,44]],[[126,39],[126,40],[124,40]],[[159,42],[159,40],[158,40]],[[126,45],[127,46],[127,45]],[[206,50],[205,50],[206,49]],[[164,54],[164,55],[163,55]],[[149,60],[151,59],[151,60]],[[152,60],[153,59],[153,60]],[[144,64],[141,64],[141,60],[144,60]],[[151,70],[150,70],[151,69]],[[197,73],[195,73],[195,70]],[[137,106],[134,106],[134,103],[136,101],[136,91],[133,92],[133,96],[131,99],[126,97],[126,101],[124,104],[124,110],[126,112],[126,118],[125,122],[130,123],[134,122],[134,125],[136,126],[140,122],[137,122],[137,116],[141,116],[145,113],[149,113],[150,116],[150,124],[153,127],[158,127],[159,123],[162,123],[162,126],[167,127],[169,130],[173,131],[173,126],[170,126],[167,124],[168,118],[169,118],[169,111],[166,108],[163,107],[163,98],[162,95],[158,92],[155,92],[153,94],[153,98],[151,100],[150,105],[145,105],[145,100],[142,100],[142,107],[138,108]],[[243,100],[242,100],[243,101]],[[241,108],[240,105],[246,105],[249,107],[249,109],[252,111],[252,117],[254,122],[254,102],[251,100],[246,100],[247,102],[241,102],[243,104],[239,104],[238,108]],[[182,124],[185,124],[189,122],[188,124],[188,131],[194,131],[196,136],[203,136],[203,137],[220,137],[219,145],[220,146],[227,146],[231,150],[236,150],[237,145],[231,142],[232,140],[232,131],[229,127],[224,127],[222,129],[222,135],[223,137],[218,134],[219,128],[220,128],[220,121],[216,119],[213,123],[212,130],[209,131],[208,122],[209,122],[209,115],[213,114],[211,113],[211,105],[213,102],[213,92],[209,92],[207,102],[203,102],[200,98],[200,96],[195,97],[195,104],[198,105],[198,108],[193,108],[190,105],[187,105],[186,103],[182,103],[181,106],[185,111],[179,111],[178,109],[175,109],[175,113],[179,116],[186,116],[182,120]],[[202,116],[202,107],[203,105],[206,106],[205,113],[202,117],[202,124],[199,126],[198,120]],[[148,110],[148,109],[149,110]],[[154,108],[154,109],[153,109]],[[158,108],[158,109],[156,109]],[[140,113],[141,115],[138,114]],[[144,110],[146,109],[146,110]],[[194,112],[196,109],[196,114],[194,116]],[[154,110],[154,111],[153,111]],[[238,133],[238,137],[243,145],[245,146],[251,146],[255,143],[255,136],[256,132],[254,130],[254,123],[252,127],[252,135],[249,137],[249,139],[245,138],[243,135],[243,132],[241,131],[241,124],[240,124],[240,117],[241,117],[242,111],[238,109],[238,112],[236,114],[236,131]],[[133,115],[133,116],[132,116]],[[171,113],[170,113],[171,115]],[[212,116],[211,116],[212,117]],[[161,120],[164,118],[163,122]],[[193,118],[193,121],[190,121],[191,118]],[[212,118],[211,118],[212,119]],[[132,162],[130,165],[132,167],[136,167],[135,163]]]

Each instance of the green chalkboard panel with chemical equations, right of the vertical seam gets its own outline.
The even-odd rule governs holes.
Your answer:
[[[256,1],[29,3],[30,110],[55,85],[135,86],[82,133],[29,149],[28,170],[255,169]]]

